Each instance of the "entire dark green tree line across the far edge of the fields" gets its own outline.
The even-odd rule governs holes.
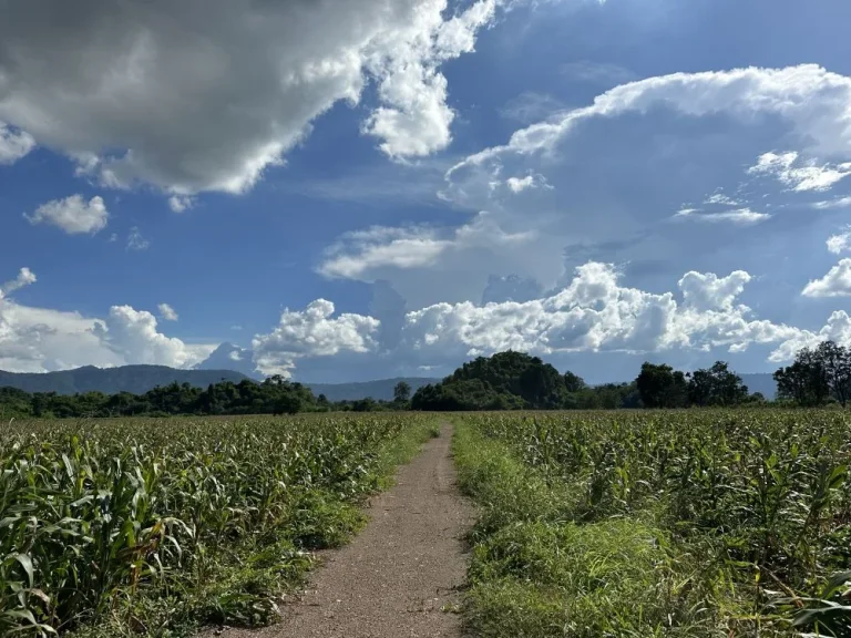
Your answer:
[[[833,341],[801,349],[794,361],[773,373],[777,400],[813,407],[851,399],[851,349]],[[597,410],[621,408],[689,408],[766,402],[749,393],[724,361],[683,372],[665,363],[645,362],[630,383],[591,387],[573,372],[562,374],[539,357],[500,352],[479,357],[442,381],[424,385],[411,397],[404,381],[392,401],[361,399],[329,401],[307,385],[279,375],[258,383],[223,381],[206,389],[188,383],[156,387],[144,394],[85,392],[28,393],[0,388],[0,419],[166,416],[173,414],[295,414],[297,412],[377,410]]]

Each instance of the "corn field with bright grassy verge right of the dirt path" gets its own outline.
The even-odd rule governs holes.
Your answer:
[[[842,411],[457,418],[466,624],[496,637],[851,635]]]

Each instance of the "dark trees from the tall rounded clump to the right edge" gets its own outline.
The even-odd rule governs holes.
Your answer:
[[[777,401],[822,405],[851,399],[851,349],[833,341],[803,348],[773,373]],[[732,407],[766,403],[750,393],[725,361],[683,372],[645,362],[632,383],[589,387],[573,372],[561,374],[537,357],[501,352],[464,363],[440,383],[420,388],[414,410],[594,410],[617,408]]]

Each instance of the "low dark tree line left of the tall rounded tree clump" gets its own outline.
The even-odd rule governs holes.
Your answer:
[[[409,388],[410,391],[410,388]],[[188,383],[156,387],[144,394],[102,392],[28,394],[13,388],[0,388],[0,420],[11,418],[92,418],[92,416],[165,416],[170,414],[295,414],[329,410],[372,412],[380,409],[404,409],[407,400],[372,400],[331,403],[325,395],[315,397],[307,385],[271,377],[262,383],[244,379],[239,383],[212,383],[206,390]]]

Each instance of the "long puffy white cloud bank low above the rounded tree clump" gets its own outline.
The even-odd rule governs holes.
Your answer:
[[[542,299],[475,306],[437,303],[409,312],[403,341],[413,351],[460,358],[514,349],[553,352],[658,352],[673,348],[727,347],[742,351],[752,343],[776,343],[771,360],[786,357],[792,340],[817,335],[782,323],[752,319],[736,305],[750,276],[687,272],[679,281],[684,301],[624,287],[617,269],[588,263],[570,286]],[[434,357],[435,358],[435,357]]]

